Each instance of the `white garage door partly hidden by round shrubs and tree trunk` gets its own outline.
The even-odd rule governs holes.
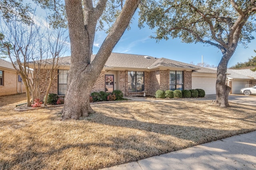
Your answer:
[[[206,95],[216,94],[216,77],[192,76],[192,89],[203,89]]]

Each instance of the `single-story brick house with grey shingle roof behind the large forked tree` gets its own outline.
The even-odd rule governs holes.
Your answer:
[[[93,60],[95,55],[92,55]],[[51,65],[51,61],[47,61]],[[54,79],[50,93],[65,95],[70,57],[61,57],[58,76]],[[36,68],[34,68],[36,72]],[[45,82],[41,82],[44,85]],[[158,89],[204,89],[206,94],[216,94],[216,71],[174,61],[144,55],[111,53],[93,91],[112,92],[121,90],[125,96],[155,95]],[[44,96],[44,95],[43,95]]]

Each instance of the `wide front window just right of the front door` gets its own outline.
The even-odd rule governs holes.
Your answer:
[[[128,92],[144,90],[144,71],[128,71]]]

